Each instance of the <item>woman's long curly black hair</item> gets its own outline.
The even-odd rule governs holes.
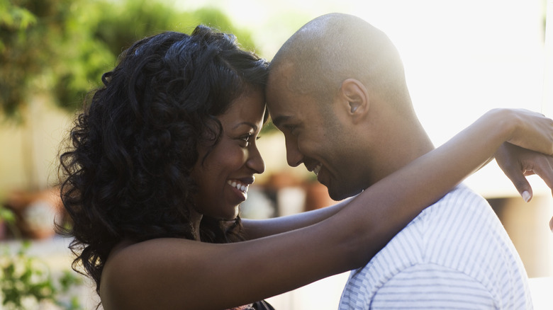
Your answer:
[[[62,202],[72,220],[63,233],[74,237],[74,270],[84,268],[96,292],[108,253],[123,239],[194,239],[191,169],[203,160],[196,148],[206,137],[218,143],[216,117],[233,100],[264,90],[267,66],[233,35],[199,25],[191,35],[135,42],[102,76],[60,155]],[[240,218],[228,225],[204,217],[199,234],[233,242],[240,228]]]

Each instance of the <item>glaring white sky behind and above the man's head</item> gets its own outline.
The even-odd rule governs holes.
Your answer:
[[[195,5],[205,4],[251,30],[267,59],[316,16],[340,11],[364,18],[398,47],[415,110],[436,145],[491,108],[542,110],[546,0],[204,0]],[[544,111],[549,115],[549,108]],[[513,193],[501,171],[488,166],[489,172],[469,183],[484,182],[491,195]],[[490,174],[501,180],[494,178],[490,186]]]

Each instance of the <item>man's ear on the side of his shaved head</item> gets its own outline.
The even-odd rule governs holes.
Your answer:
[[[357,79],[345,79],[340,88],[342,99],[347,103],[348,113],[355,121],[364,118],[369,110],[369,94],[367,88]]]

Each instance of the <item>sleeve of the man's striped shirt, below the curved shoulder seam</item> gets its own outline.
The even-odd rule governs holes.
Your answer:
[[[491,292],[462,272],[434,264],[401,270],[374,294],[370,309],[497,309]]]

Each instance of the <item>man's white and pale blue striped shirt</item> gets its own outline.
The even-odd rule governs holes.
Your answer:
[[[352,270],[339,309],[532,309],[527,280],[486,200],[459,185]]]

